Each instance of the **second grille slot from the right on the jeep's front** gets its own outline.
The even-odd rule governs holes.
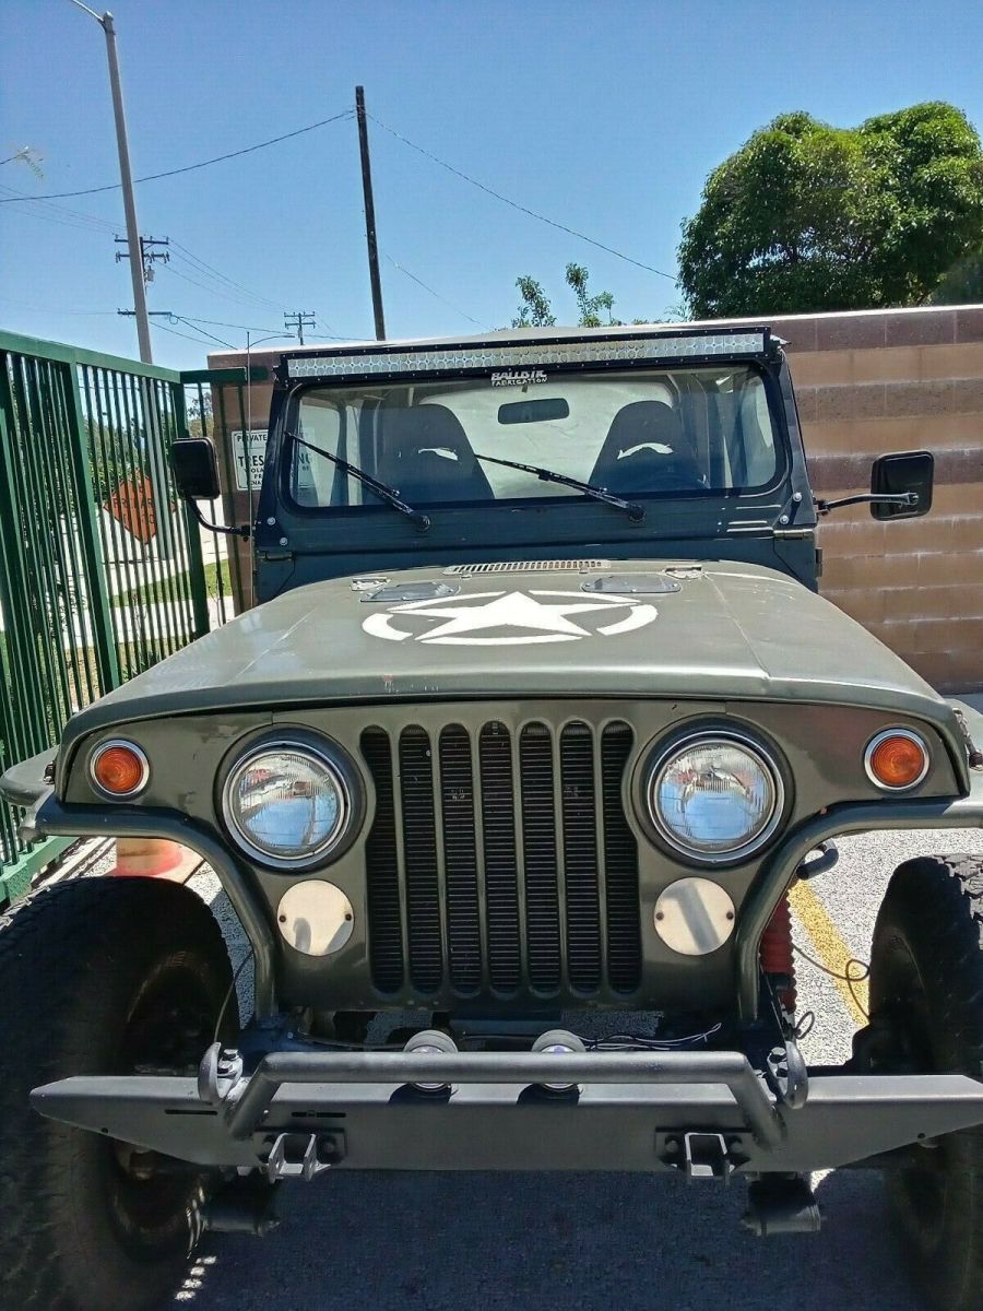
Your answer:
[[[560,783],[568,973],[573,987],[596,992],[600,986],[600,889],[594,734],[586,724],[568,724],[560,735]]]

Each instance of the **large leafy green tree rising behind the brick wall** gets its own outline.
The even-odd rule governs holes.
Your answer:
[[[782,114],[710,173],[684,222],[696,317],[924,302],[983,250],[983,152],[945,104],[856,128]]]

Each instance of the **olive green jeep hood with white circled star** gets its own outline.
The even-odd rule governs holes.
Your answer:
[[[583,590],[611,576],[615,591]],[[634,590],[667,578],[678,590]],[[148,716],[395,697],[830,703],[952,722],[882,642],[771,569],[436,566],[384,582],[384,593],[353,578],[311,583],[240,615],[81,711],[66,745]],[[452,594],[413,599],[419,585]]]

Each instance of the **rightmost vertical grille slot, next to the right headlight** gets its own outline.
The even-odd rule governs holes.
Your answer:
[[[621,804],[621,780],[632,742],[626,724],[608,724],[600,738],[608,979],[616,992],[634,992],[642,968],[638,844]]]

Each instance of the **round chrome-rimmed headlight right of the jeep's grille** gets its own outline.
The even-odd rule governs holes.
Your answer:
[[[665,840],[700,860],[738,860],[763,846],[781,818],[777,770],[743,738],[700,737],[662,756],[649,809]]]

